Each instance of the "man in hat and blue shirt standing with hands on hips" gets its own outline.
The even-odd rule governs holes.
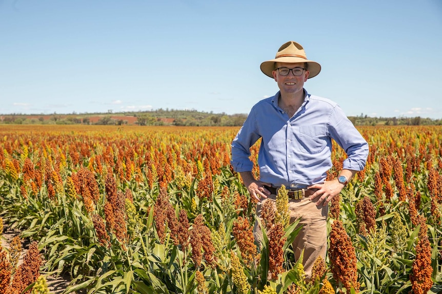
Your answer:
[[[231,164],[251,197],[259,201],[258,217],[265,201],[275,201],[279,187],[289,190],[290,221],[301,218],[303,224],[293,243],[295,258],[304,250],[303,265],[310,280],[313,263],[326,255],[328,203],[364,169],[368,144],[335,102],[307,93],[304,83],[318,75],[321,67],[307,59],[300,44],[283,44],[275,59],[260,68],[277,82],[279,92],[252,107],[232,142]],[[258,139],[262,139],[260,178],[255,179],[249,156]],[[332,167],[332,139],[348,157],[339,176],[326,181]],[[255,223],[255,238],[258,235]]]

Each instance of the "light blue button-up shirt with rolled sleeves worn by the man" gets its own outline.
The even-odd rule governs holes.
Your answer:
[[[256,103],[232,142],[235,171],[251,171],[250,147],[262,138],[258,153],[260,180],[275,186],[304,188],[324,183],[332,167],[334,139],[347,153],[343,168],[360,171],[368,144],[333,101],[306,93],[291,118],[278,106],[279,92]]]

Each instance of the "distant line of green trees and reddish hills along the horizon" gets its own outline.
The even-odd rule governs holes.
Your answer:
[[[98,121],[91,122],[92,117],[99,116]],[[211,112],[197,110],[177,110],[162,109],[150,111],[121,112],[111,114],[69,114],[69,115],[0,115],[0,124],[83,124],[83,125],[126,125],[131,118],[133,122],[140,126],[241,126],[247,118],[247,114],[227,115],[224,112],[214,114]],[[135,120],[134,120],[135,117]],[[117,118],[117,119],[116,119]],[[123,118],[123,119],[122,119]],[[430,119],[421,117],[349,117],[355,126],[375,126],[375,125],[442,125],[442,119]]]

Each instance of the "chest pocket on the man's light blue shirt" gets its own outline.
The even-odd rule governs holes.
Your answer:
[[[325,126],[300,126],[299,149],[303,153],[319,153],[327,146]]]

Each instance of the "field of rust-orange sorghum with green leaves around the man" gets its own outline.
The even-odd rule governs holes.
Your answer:
[[[254,244],[255,203],[229,164],[237,130],[3,125],[0,234],[21,234],[0,248],[0,293],[47,293],[62,273],[65,293],[442,292],[442,127],[359,128],[367,166],[330,204],[311,281],[285,191]],[[335,146],[329,178],[344,157]]]

